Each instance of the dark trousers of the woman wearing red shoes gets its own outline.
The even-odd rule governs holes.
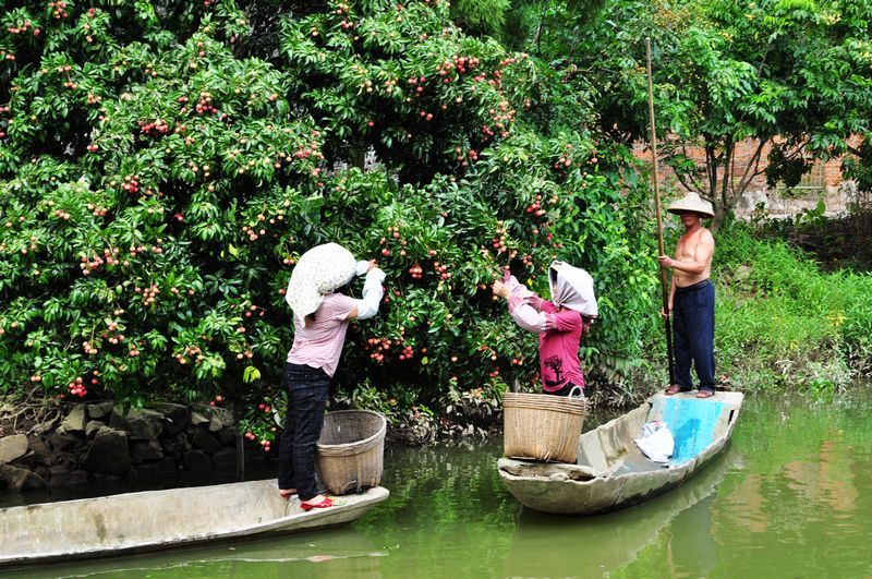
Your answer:
[[[319,367],[284,364],[288,414],[279,447],[279,488],[296,488],[301,500],[318,496],[315,444],[324,425],[330,376]]]

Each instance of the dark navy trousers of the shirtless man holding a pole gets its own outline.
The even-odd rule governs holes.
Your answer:
[[[715,286],[711,280],[676,288],[673,299],[675,377],[682,390],[693,389],[691,362],[700,390],[715,389]]]

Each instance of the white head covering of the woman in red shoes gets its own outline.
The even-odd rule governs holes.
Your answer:
[[[291,273],[284,300],[303,322],[320,307],[324,297],[354,279],[354,256],[338,243],[316,245],[305,252]]]

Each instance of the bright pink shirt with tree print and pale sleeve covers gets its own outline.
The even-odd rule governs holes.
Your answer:
[[[509,298],[509,313],[524,329],[538,333],[538,364],[542,388],[552,393],[568,383],[584,388],[579,346],[584,319],[573,310],[559,310],[536,294]]]

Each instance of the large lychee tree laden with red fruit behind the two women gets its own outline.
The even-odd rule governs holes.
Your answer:
[[[655,269],[620,152],[528,125],[546,72],[444,3],[326,4],[284,17],[267,61],[229,0],[5,2],[0,390],[243,399],[269,441],[283,288],[325,241],[387,273],[337,376],[359,403],[492,409],[530,383],[534,337],[488,286],[509,266],[547,293],[555,256],[600,285],[588,364],[633,358]]]

